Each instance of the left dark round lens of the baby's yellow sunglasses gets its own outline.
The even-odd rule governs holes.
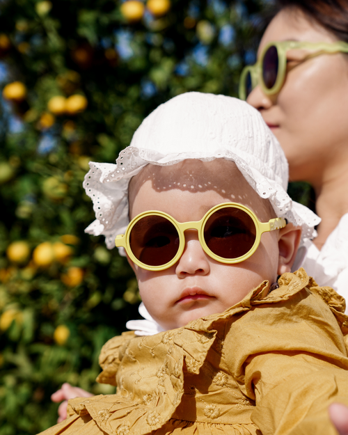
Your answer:
[[[138,260],[149,266],[161,266],[175,257],[179,235],[168,219],[145,216],[132,228],[129,244]]]

